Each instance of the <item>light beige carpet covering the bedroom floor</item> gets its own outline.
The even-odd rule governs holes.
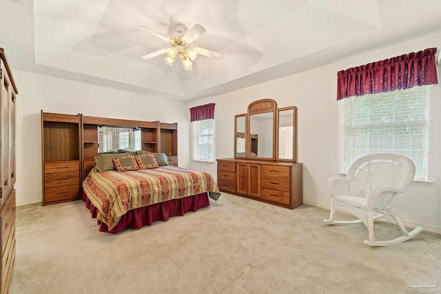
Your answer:
[[[441,286],[441,238],[363,244],[363,225],[223,193],[210,207],[111,235],[82,201],[17,207],[12,293],[409,293],[403,276]],[[397,237],[378,222],[377,239]],[[440,288],[440,287],[438,287]]]

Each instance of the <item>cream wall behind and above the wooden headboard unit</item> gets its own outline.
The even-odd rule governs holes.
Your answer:
[[[12,69],[17,81],[17,205],[41,202],[40,111],[178,123],[179,165],[189,166],[187,103]]]

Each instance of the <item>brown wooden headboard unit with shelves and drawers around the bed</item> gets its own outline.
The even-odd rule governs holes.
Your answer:
[[[81,198],[81,182],[95,166],[102,132],[99,129],[104,126],[141,130],[142,150],[165,153],[169,164],[178,166],[178,123],[50,114],[42,110],[43,205]]]

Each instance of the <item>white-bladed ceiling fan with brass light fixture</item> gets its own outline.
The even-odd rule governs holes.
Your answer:
[[[193,26],[193,28],[187,30],[187,32],[183,34],[183,31],[185,30],[184,26],[181,23],[176,23],[175,29],[177,35],[171,36],[170,38],[167,38],[167,36],[162,36],[161,34],[148,30],[142,25],[136,25],[136,28],[145,30],[150,34],[157,36],[159,39],[163,39],[164,41],[167,41],[168,43],[170,43],[171,46],[169,48],[164,48],[152,52],[150,54],[141,56],[142,59],[152,59],[153,57],[167,53],[167,57],[165,57],[165,62],[168,65],[173,65],[176,56],[178,56],[178,58],[181,59],[184,70],[193,69],[192,64],[198,54],[208,57],[214,57],[215,59],[223,59],[222,53],[214,52],[200,47],[195,47],[192,45],[192,42],[194,40],[198,39],[199,36],[207,32],[207,30],[205,30],[205,28],[202,25],[196,24]]]

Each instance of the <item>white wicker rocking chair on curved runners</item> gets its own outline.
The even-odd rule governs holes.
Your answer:
[[[398,154],[371,154],[353,162],[346,178],[328,179],[331,193],[331,215],[327,224],[364,223],[369,231],[371,246],[387,246],[409,240],[422,231],[416,227],[407,231],[395,210],[389,205],[397,193],[406,191],[415,177],[415,165],[406,156]],[[334,220],[334,211],[351,213],[359,220]],[[374,213],[378,213],[374,216]],[[403,235],[387,241],[376,241],[373,235],[373,220],[384,215],[391,216],[400,227]]]

